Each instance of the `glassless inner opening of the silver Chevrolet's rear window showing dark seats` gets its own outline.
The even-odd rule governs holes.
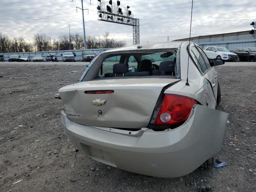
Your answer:
[[[98,78],[175,76],[176,52],[118,55],[102,62]]]

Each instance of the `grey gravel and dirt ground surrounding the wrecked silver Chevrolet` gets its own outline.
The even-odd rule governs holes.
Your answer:
[[[82,74],[84,66],[70,64],[0,63],[1,192],[256,191],[256,66],[217,67],[222,91],[218,110],[230,113],[218,158],[228,166],[163,179],[118,170],[74,152],[60,124],[62,101],[54,99],[59,88]]]

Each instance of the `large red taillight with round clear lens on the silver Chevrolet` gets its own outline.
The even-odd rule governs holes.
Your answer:
[[[196,103],[196,100],[186,96],[166,94],[154,125],[172,125],[185,122]]]

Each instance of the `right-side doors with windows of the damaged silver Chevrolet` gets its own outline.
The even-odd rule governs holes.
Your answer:
[[[206,104],[210,108],[215,108],[218,90],[218,88],[216,89],[216,70],[210,66],[210,62],[206,54],[204,54],[200,47],[197,47],[196,45],[192,46],[191,56],[205,78],[204,89],[206,90]]]

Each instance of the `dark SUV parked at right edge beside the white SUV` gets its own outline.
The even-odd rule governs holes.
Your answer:
[[[233,53],[237,54],[241,61],[256,62],[256,47],[235,48]]]

